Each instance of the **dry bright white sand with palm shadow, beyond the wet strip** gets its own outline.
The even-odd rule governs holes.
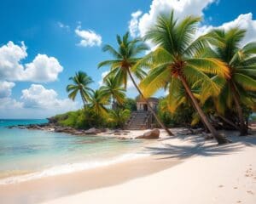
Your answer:
[[[256,137],[232,139],[232,144],[219,146],[212,140],[195,136],[164,140],[159,148],[153,149],[159,155],[157,159],[176,157],[183,162],[123,184],[64,196],[45,204],[254,204]],[[121,169],[119,173],[122,173]]]

